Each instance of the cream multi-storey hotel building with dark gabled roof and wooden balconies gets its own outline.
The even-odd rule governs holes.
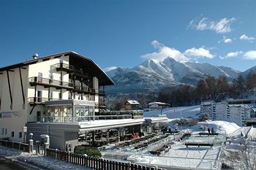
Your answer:
[[[91,59],[72,52],[0,68],[0,139],[24,142],[26,123],[52,121],[50,116],[59,122],[70,121],[64,116],[71,113],[72,121],[94,116],[104,106],[104,85],[113,81]],[[66,100],[81,101],[82,107],[45,107],[46,101]]]

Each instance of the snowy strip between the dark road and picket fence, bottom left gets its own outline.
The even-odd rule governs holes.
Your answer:
[[[14,161],[26,162],[29,164],[34,164],[40,166],[42,169],[86,169],[83,166],[74,165],[72,163],[67,163],[65,161],[58,161],[56,159],[48,158],[43,155],[35,155],[28,152],[21,152],[19,150],[15,150],[9,147],[1,147],[0,146],[0,155],[6,158],[10,158]]]

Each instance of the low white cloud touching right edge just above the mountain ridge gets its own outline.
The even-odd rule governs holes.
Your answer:
[[[243,52],[243,51],[231,52],[231,53],[227,53],[225,57],[220,57],[220,58],[224,59],[224,58],[235,58],[235,57],[239,57],[245,60],[255,60],[256,50],[250,50],[246,52]]]

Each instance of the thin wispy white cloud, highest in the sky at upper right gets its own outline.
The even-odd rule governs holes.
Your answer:
[[[211,30],[211,31],[216,31],[217,33],[220,33],[220,34],[224,34],[224,33],[233,31],[230,25],[235,20],[236,18],[230,18],[230,19],[222,18],[220,20],[211,20],[209,18],[202,18],[199,22],[197,22],[197,19],[195,19],[189,22],[189,26],[187,28],[192,28],[200,31]]]

